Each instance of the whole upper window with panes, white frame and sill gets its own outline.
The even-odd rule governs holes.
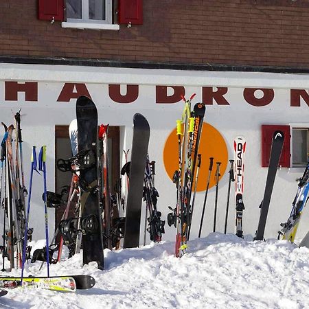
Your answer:
[[[62,27],[119,30],[113,25],[112,0],[67,0]]]

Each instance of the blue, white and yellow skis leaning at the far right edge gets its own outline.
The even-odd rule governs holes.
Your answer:
[[[290,216],[288,217],[288,220],[286,222],[281,224],[282,230],[279,231],[278,234],[278,239],[282,237],[282,239],[290,240],[290,242],[294,242],[295,240],[299,221],[301,219],[304,207],[306,206],[306,203],[308,201],[309,162],[306,165],[303,176],[301,176],[301,178],[297,180],[297,193],[292,203],[292,210],[290,211]],[[301,247],[304,247],[306,243],[306,239],[304,239],[302,241]],[[306,245],[306,247],[308,247],[308,244]]]

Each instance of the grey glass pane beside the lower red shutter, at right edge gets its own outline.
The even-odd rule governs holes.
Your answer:
[[[308,161],[308,129],[293,128],[293,163]]]

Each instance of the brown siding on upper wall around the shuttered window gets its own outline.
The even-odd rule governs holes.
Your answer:
[[[144,0],[143,6],[143,25],[77,30],[38,20],[37,0],[0,1],[0,55],[309,67],[308,1]]]

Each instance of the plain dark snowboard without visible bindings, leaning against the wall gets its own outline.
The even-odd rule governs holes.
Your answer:
[[[133,117],[133,141],[130,160],[130,182],[126,204],[124,248],[139,247],[141,200],[143,198],[149,136],[150,128],[147,119],[141,114],[135,114]]]

